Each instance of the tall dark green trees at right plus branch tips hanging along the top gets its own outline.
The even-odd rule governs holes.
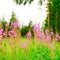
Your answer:
[[[17,4],[32,3],[34,0],[14,0]],[[42,5],[46,0],[39,0],[39,4]],[[46,28],[53,30],[55,33],[60,33],[60,0],[47,0],[48,15],[44,22],[43,29]]]

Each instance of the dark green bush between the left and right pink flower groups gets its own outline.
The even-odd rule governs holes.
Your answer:
[[[26,34],[27,34],[27,32],[28,31],[31,31],[31,33],[32,33],[32,36],[34,36],[34,34],[33,34],[33,25],[32,25],[32,21],[30,21],[29,22],[29,24],[28,24],[28,26],[22,26],[22,28],[21,28],[21,36],[26,36]]]

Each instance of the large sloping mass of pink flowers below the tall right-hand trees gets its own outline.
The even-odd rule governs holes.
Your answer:
[[[48,29],[46,29],[45,33],[41,32],[40,26],[37,24],[34,25],[33,31],[34,34],[36,34],[35,36],[37,36],[40,40],[50,41],[52,39],[51,37],[53,37],[54,40],[55,38],[60,39],[59,34],[54,35],[54,32],[49,32]]]

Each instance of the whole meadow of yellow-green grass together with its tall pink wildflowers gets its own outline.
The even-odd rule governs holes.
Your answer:
[[[8,27],[11,27],[10,30]],[[19,22],[0,24],[0,60],[60,60],[60,35],[46,29],[43,32],[39,24],[21,36]]]

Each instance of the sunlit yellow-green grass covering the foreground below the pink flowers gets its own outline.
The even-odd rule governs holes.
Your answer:
[[[60,43],[6,38],[0,49],[0,60],[60,60]]]

